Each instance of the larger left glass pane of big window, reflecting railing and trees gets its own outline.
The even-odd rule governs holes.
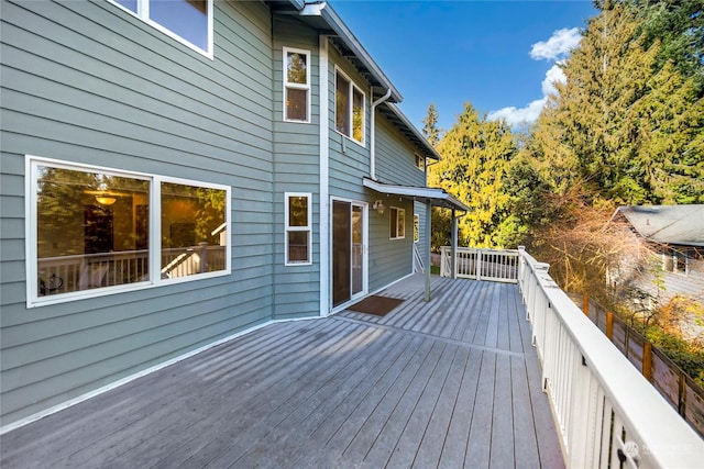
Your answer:
[[[150,182],[37,168],[38,294],[148,279]]]

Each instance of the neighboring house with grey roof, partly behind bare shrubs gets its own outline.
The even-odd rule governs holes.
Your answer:
[[[645,309],[675,295],[704,305],[704,205],[620,206],[612,220],[637,246],[608,271],[613,288],[640,292]]]

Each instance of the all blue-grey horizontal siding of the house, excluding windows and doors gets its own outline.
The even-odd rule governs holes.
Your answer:
[[[264,2],[213,2],[212,58],[107,0],[1,8],[2,426],[257,325],[329,312],[320,293],[330,256],[330,235],[320,234],[330,202],[320,198],[321,154],[326,199],[380,199],[362,186],[370,83],[348,59],[329,47],[321,98],[318,32]],[[310,51],[310,122],[283,119],[284,47]],[[364,145],[334,130],[336,66],[365,93]],[[377,123],[380,180],[424,186],[413,145],[378,114]],[[229,188],[231,273],[28,304],[28,155]],[[285,265],[287,192],[311,196],[308,265]],[[413,269],[414,202],[385,203],[405,210],[406,235],[389,239],[389,211],[369,214],[369,291]]]

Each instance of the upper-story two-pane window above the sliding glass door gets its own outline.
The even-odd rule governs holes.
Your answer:
[[[336,72],[336,130],[364,145],[364,93],[340,70]]]

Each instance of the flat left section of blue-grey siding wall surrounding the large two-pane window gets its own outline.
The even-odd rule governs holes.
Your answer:
[[[213,60],[112,3],[2,2],[2,422],[273,317],[271,13],[215,2]],[[26,308],[25,155],[232,187],[232,273]]]

